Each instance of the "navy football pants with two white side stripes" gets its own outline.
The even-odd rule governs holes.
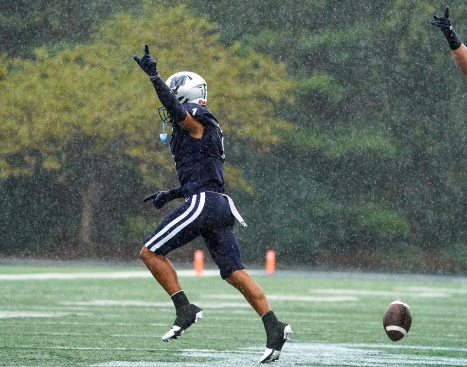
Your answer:
[[[234,271],[245,268],[234,223],[227,197],[216,192],[201,192],[167,214],[143,243],[152,252],[166,255],[201,235],[220,276],[225,279]]]

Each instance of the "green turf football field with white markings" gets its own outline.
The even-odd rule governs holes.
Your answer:
[[[0,366],[257,365],[263,325],[230,285],[182,273],[204,318],[163,343],[175,311],[147,274],[142,267],[0,265]],[[294,332],[275,366],[467,366],[465,278],[255,278]],[[394,343],[382,315],[397,298],[411,306],[413,323]]]

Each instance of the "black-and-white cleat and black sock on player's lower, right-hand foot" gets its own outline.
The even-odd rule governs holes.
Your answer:
[[[260,363],[274,362],[279,358],[284,343],[292,334],[292,329],[289,324],[279,321],[272,311],[264,314],[261,319],[266,330],[267,341]]]

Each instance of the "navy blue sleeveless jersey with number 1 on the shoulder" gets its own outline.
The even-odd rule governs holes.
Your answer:
[[[214,115],[206,107],[183,104],[186,111],[204,127],[195,139],[178,123],[172,124],[170,151],[185,198],[200,192],[224,192],[224,137]]]

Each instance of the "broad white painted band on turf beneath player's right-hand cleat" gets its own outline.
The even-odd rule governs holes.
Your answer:
[[[122,335],[124,336],[124,335]],[[126,336],[126,335],[125,335]],[[132,335],[129,335],[132,336]],[[263,347],[256,346],[240,350],[182,349],[167,350],[153,348],[101,348],[101,347],[35,347],[18,346],[18,349],[33,350],[122,350],[152,351],[168,353],[164,362],[130,362],[110,360],[97,363],[94,367],[225,367],[256,366]],[[388,351],[391,350],[391,351]],[[409,350],[467,352],[467,348],[404,346],[394,344],[333,344],[289,342],[280,357],[281,365],[294,366],[467,366],[466,357],[443,357],[409,354]],[[171,355],[176,361],[170,362]],[[183,362],[183,360],[185,360]]]

